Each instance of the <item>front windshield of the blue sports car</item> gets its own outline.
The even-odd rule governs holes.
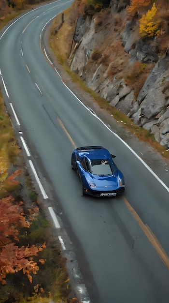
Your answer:
[[[108,160],[91,160],[93,175],[112,175],[113,170]]]

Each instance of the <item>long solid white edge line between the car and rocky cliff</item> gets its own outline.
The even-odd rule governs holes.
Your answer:
[[[67,87],[67,85],[64,83],[64,82],[62,82],[65,86],[66,86],[66,88],[70,91],[70,89],[69,89],[69,87]],[[90,110],[90,108],[88,108],[87,106],[85,106],[83,103],[82,103],[82,101],[80,101],[80,99],[72,92],[72,91],[70,91],[72,94],[73,94],[73,96],[94,116],[94,117],[96,117],[99,121],[101,121],[101,123],[103,123],[103,125],[114,135],[114,136],[116,136],[124,145],[126,145],[126,147],[128,148],[128,150],[130,151],[130,152],[132,152],[140,161],[141,161],[141,163],[149,170],[149,172],[155,177],[155,179],[158,181],[158,182],[160,182],[161,183],[161,185],[168,191],[168,193],[169,193],[169,187],[155,174],[155,172],[139,157],[139,155],[136,153],[136,152],[134,152],[133,150],[132,150],[132,148],[120,137],[120,136],[118,136],[117,134],[115,134],[96,114],[94,114],[94,113],[92,113],[91,112],[91,110]]]

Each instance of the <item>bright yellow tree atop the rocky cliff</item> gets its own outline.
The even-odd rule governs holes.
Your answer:
[[[142,37],[153,37],[159,34],[160,19],[156,17],[157,9],[155,3],[151,10],[148,10],[146,15],[140,19],[140,34]]]

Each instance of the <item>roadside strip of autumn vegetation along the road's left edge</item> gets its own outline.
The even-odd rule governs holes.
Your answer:
[[[66,259],[51,234],[1,93],[0,220],[0,303],[78,302],[67,299]]]

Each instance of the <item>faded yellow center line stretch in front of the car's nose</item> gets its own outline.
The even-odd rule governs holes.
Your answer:
[[[148,240],[151,242],[151,244],[155,248],[157,254],[160,256],[160,258],[162,259],[162,261],[164,262],[166,267],[169,269],[169,257],[167,256],[167,254],[166,254],[164,248],[162,247],[162,245],[160,244],[160,242],[155,237],[153,231],[150,229],[150,227],[147,224],[144,224],[142,222],[138,213],[132,208],[132,206],[127,201],[127,198],[123,197],[123,199],[125,201],[125,204],[127,205],[128,210],[132,213],[132,215],[134,216],[136,221],[139,223],[139,226],[141,227],[142,231],[144,232],[144,234],[146,235]]]

